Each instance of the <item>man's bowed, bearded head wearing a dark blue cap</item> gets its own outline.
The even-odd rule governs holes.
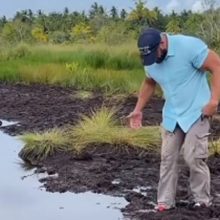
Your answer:
[[[157,29],[148,28],[140,34],[138,48],[143,65],[161,63],[167,55],[167,39]]]

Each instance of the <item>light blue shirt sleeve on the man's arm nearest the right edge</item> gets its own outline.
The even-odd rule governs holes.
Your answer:
[[[200,69],[205,62],[209,49],[208,46],[200,39],[194,38],[191,48],[191,63],[196,69]]]

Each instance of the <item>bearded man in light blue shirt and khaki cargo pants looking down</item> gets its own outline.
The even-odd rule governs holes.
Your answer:
[[[220,97],[220,58],[200,39],[169,35],[149,28],[138,39],[146,72],[135,109],[128,116],[130,127],[141,127],[142,110],[158,83],[165,104],[162,121],[158,211],[175,207],[178,157],[190,170],[193,207],[208,207],[210,172],[208,157],[209,117],[216,113]],[[211,90],[205,71],[210,71]]]

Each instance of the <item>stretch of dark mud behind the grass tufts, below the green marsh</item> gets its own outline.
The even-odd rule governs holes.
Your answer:
[[[121,118],[130,113],[135,101],[134,96],[104,98],[101,93],[93,93],[89,99],[80,99],[78,91],[73,89],[0,84],[0,118],[19,121],[18,125],[7,128],[11,135],[74,125],[82,114],[89,115],[101,106],[121,106],[117,114]],[[160,122],[161,106],[162,101],[152,100],[146,110],[144,124]]]

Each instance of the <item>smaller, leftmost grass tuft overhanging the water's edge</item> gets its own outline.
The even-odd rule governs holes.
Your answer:
[[[68,139],[64,131],[54,128],[44,133],[29,133],[21,137],[25,142],[22,158],[42,160],[57,151],[68,149]]]

